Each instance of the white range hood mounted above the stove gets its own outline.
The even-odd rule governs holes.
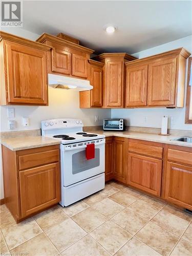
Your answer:
[[[55,89],[73,89],[75,91],[88,91],[92,90],[89,80],[73,78],[69,76],[59,76],[48,74],[49,86]]]

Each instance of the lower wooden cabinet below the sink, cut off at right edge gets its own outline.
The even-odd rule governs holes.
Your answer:
[[[164,175],[164,199],[192,210],[192,149],[169,146]]]

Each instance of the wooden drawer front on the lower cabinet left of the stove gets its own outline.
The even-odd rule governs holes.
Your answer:
[[[18,156],[19,170],[48,164],[59,161],[59,150],[49,150],[44,152],[28,153],[26,155]]]

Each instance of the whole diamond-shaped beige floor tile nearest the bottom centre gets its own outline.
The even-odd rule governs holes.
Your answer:
[[[107,221],[90,235],[111,254],[115,254],[132,235],[111,221]]]

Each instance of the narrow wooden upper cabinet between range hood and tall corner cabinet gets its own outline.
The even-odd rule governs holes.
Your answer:
[[[103,63],[89,59],[89,77],[92,90],[79,92],[80,108],[101,108],[103,103]]]

